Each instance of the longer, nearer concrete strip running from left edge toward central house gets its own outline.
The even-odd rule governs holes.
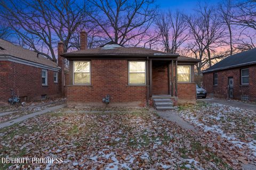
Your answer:
[[[25,115],[25,116],[15,118],[15,119],[13,119],[11,121],[8,121],[8,122],[0,123],[0,129],[4,128],[4,127],[7,127],[7,126],[11,126],[15,123],[22,122],[24,120],[27,120],[28,118],[31,118],[31,117],[34,117],[34,116],[37,116],[37,115],[42,115],[42,114],[47,113],[47,112],[52,112],[52,111],[58,110],[62,107],[66,107],[66,104],[62,104],[62,105],[58,105],[58,106],[54,106],[54,107],[49,107],[49,108],[46,108],[43,111],[31,113],[31,114],[28,114],[28,115]]]

